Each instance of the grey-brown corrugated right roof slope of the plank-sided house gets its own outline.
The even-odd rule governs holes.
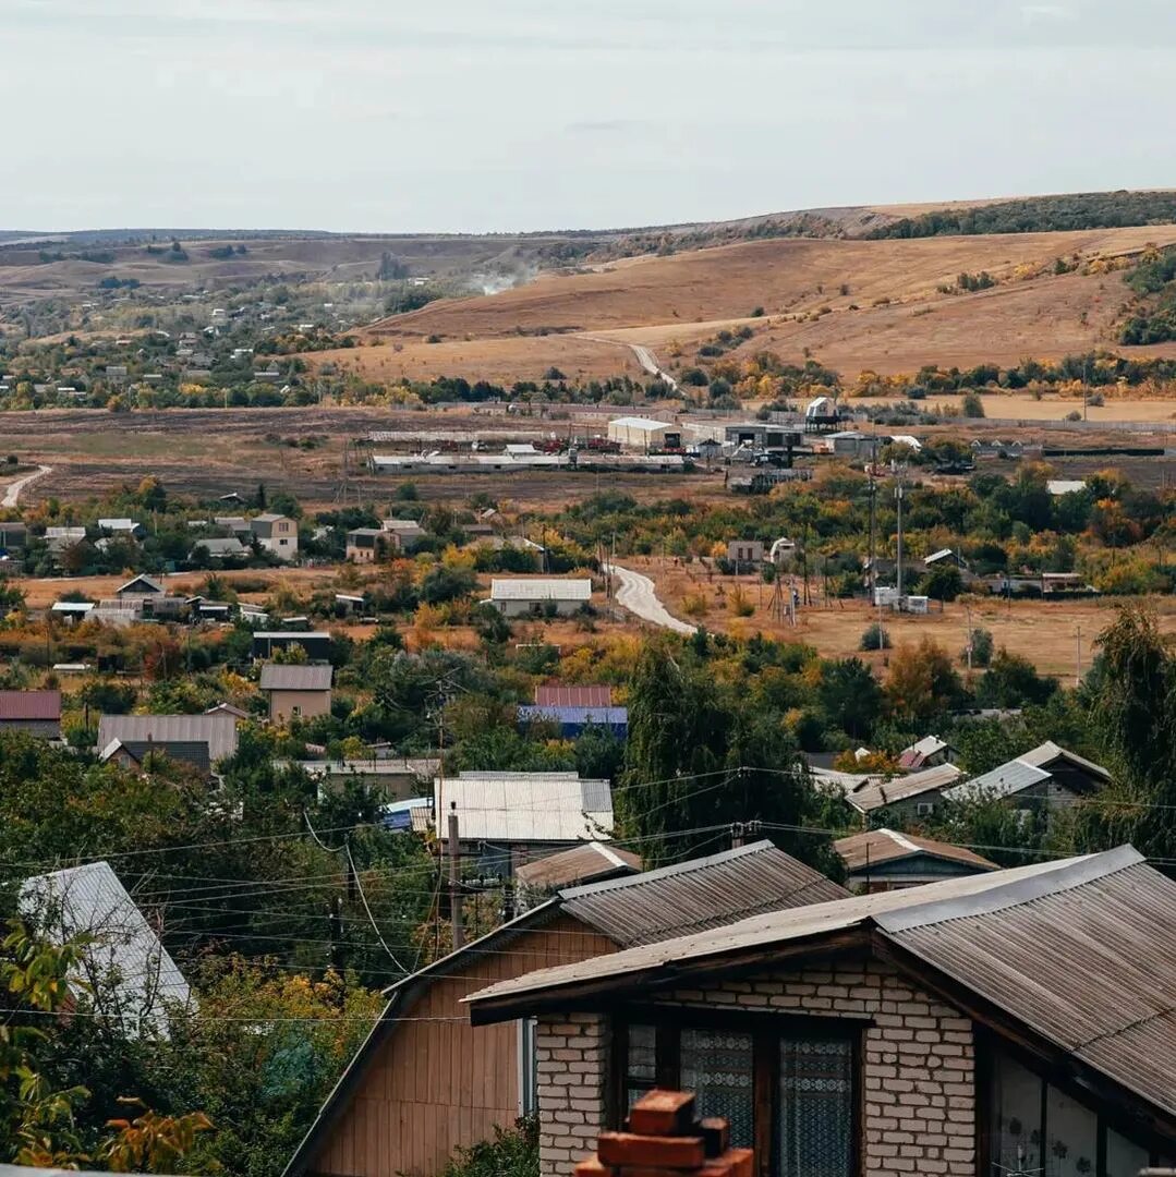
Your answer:
[[[757,842],[562,896],[566,912],[629,947],[848,893],[770,842]]]

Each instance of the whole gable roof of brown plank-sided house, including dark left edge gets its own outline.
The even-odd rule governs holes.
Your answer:
[[[577,851],[579,849],[577,847]],[[532,907],[521,916],[494,929],[489,935],[472,940],[456,952],[434,960],[418,972],[388,986],[384,991],[388,998],[388,1003],[380,1019],[372,1028],[371,1033],[364,1040],[356,1057],[335,1084],[334,1090],[327,1097],[310,1131],[303,1138],[290,1164],[286,1165],[284,1177],[300,1177],[300,1175],[312,1171],[312,1164],[321,1137],[346,1111],[352,1096],[368,1068],[374,1063],[377,1051],[396,1033],[400,1024],[399,1019],[407,1016],[414,1002],[427,991],[428,985],[434,979],[454,972],[459,973],[463,964],[471,959],[477,959],[480,955],[500,952],[505,944],[517,936],[543,927],[560,913],[567,913],[586,923],[589,927],[599,931],[609,938],[612,938],[612,933],[609,931],[610,927],[618,935],[625,935],[629,924],[627,917],[622,911],[619,893],[626,889],[640,889],[642,900],[651,909],[653,906],[672,909],[673,897],[682,896],[684,885],[693,889],[697,902],[700,897],[705,896],[706,884],[710,880],[716,880],[719,884],[718,893],[726,895],[729,902],[745,903],[749,890],[763,883],[765,869],[775,870],[777,879],[775,892],[777,899],[775,902],[779,906],[795,906],[811,902],[813,891],[810,890],[810,886],[816,879],[823,879],[838,895],[846,895],[836,883],[824,879],[823,876],[817,875],[816,871],[812,871],[803,863],[797,862],[791,856],[784,853],[784,851],[777,850],[770,842],[758,842],[738,850],[711,855],[707,858],[679,863],[677,866],[666,866],[660,870],[631,875],[606,883],[593,883],[587,886],[562,891],[546,903]],[[803,885],[792,885],[797,882],[802,882]],[[589,923],[586,917],[592,899],[598,893],[604,892],[607,892],[605,903],[602,906],[592,909],[594,922]],[[570,906],[572,902],[578,903],[576,909]],[[715,912],[709,911],[705,902],[703,902],[696,911],[695,923],[683,924],[679,913],[677,926],[679,930],[683,926],[691,930],[705,927],[709,926],[709,922],[713,918]],[[656,938],[656,935],[652,938]],[[617,943],[623,942],[617,940]]]

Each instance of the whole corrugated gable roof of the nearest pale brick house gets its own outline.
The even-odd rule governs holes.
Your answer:
[[[1176,882],[1131,846],[775,911],[466,1000],[483,1024],[850,944],[1028,1036],[1081,1077],[1147,1102],[1176,1135]]]

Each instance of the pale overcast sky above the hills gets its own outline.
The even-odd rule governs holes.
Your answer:
[[[1172,0],[0,0],[0,228],[1176,186]]]

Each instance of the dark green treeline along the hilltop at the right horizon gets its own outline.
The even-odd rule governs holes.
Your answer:
[[[1176,221],[1176,192],[1076,192],[904,217],[879,226],[868,237],[882,240],[986,233],[1056,233],[1065,230],[1168,225],[1172,221]]]

